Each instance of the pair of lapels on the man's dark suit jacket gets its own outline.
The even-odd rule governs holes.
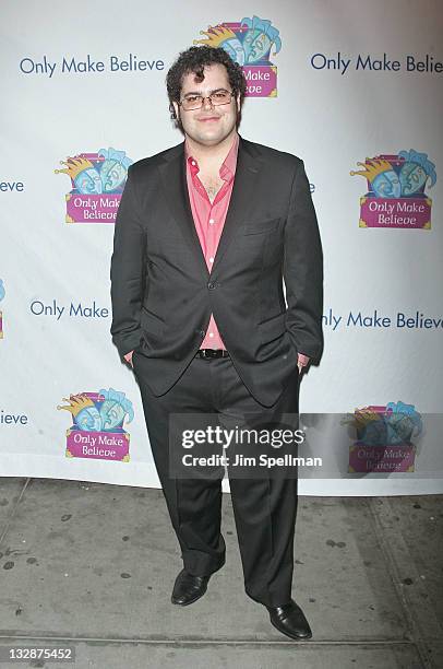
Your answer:
[[[216,268],[219,266],[238,225],[248,218],[250,208],[254,201],[255,184],[261,166],[262,161],[256,156],[253,144],[240,137],[232,193],[211,274],[214,274]],[[159,171],[166,199],[175,221],[185,243],[190,246],[196,262],[204,274],[208,277],[209,270],[207,269],[206,260],[200,245],[199,235],[192,218],[191,203],[189,201],[184,142],[179,144],[176,151],[165,160]]]

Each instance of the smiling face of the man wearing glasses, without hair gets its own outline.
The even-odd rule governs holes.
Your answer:
[[[204,80],[196,83],[193,72],[183,77],[181,96],[207,96],[215,91],[231,91],[228,73],[225,66],[212,64],[204,68]],[[193,141],[206,146],[214,146],[223,142],[236,128],[237,113],[240,108],[239,97],[227,105],[213,106],[206,98],[199,109],[185,111],[181,105],[173,103],[177,117],[180,118],[183,130]]]

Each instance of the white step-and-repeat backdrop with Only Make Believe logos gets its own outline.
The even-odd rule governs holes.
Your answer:
[[[307,463],[300,492],[442,492],[441,3],[5,0],[0,14],[0,476],[158,486],[109,332],[113,224],[129,165],[182,140],[168,68],[206,44],[243,67],[240,133],[304,161],[319,218],[325,349],[300,410],[327,466]]]

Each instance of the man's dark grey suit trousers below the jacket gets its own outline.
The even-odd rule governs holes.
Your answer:
[[[134,374],[183,566],[193,575],[208,575],[225,563],[220,531],[223,477],[171,478],[169,416],[212,413],[217,414],[223,426],[234,426],[248,415],[275,424],[285,413],[298,413],[298,369],[276,403],[264,407],[250,394],[230,357],[192,359],[176,384],[159,397],[146,383],[143,357],[143,353],[134,352]],[[229,474],[229,467],[227,470]],[[291,599],[297,476],[230,477],[229,485],[246,591],[265,606],[283,606]]]

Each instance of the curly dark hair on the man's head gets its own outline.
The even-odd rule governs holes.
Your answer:
[[[204,68],[212,64],[223,64],[228,73],[229,84],[235,95],[240,95],[240,111],[237,118],[237,126],[240,124],[241,106],[247,92],[247,80],[243,70],[231,57],[220,47],[193,46],[181,51],[177,60],[169,68],[166,75],[166,87],[169,97],[169,110],[171,118],[176,120],[176,127],[183,130],[180,119],[177,119],[173,111],[172,102],[180,101],[183,77],[193,72],[196,81],[204,80]]]

